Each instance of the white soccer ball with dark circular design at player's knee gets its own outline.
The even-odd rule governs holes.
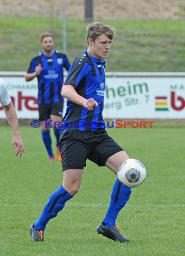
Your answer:
[[[146,169],[139,160],[127,159],[120,165],[117,175],[123,185],[137,187],[145,180]]]

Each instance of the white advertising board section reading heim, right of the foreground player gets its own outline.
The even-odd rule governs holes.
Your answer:
[[[104,118],[184,119],[185,79],[107,78]]]

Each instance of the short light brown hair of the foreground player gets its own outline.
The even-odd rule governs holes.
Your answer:
[[[105,34],[109,37],[110,40],[115,36],[115,28],[107,26],[102,22],[93,22],[87,26],[87,41],[88,38],[91,38],[93,41],[101,34]]]

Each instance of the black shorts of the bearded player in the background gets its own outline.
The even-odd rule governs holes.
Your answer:
[[[62,117],[63,104],[63,101],[52,104],[39,104],[39,120],[43,121],[50,119],[51,115],[58,115]]]

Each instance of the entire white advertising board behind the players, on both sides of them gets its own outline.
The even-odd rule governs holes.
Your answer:
[[[185,119],[185,74],[138,74],[106,76],[104,119]],[[38,119],[37,79],[26,82],[23,75],[1,77],[18,118]],[[5,118],[2,106],[0,118]]]

